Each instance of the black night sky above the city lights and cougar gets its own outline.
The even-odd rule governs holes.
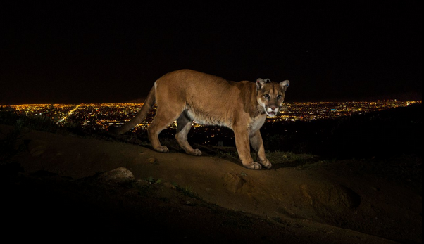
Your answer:
[[[0,4],[0,105],[135,101],[182,68],[289,79],[287,102],[422,99],[422,1],[14,2]]]

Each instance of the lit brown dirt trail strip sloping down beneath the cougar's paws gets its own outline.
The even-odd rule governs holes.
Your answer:
[[[11,127],[0,129],[7,131]],[[331,236],[329,233],[337,232],[358,237],[363,235],[356,232],[360,231],[392,240],[421,242],[421,196],[375,176],[345,171],[340,174],[337,168],[319,164],[306,169],[254,171],[221,158],[156,153],[127,143],[39,131],[23,134],[22,141],[27,150],[17,160],[27,174],[45,170],[83,179],[125,167],[136,180],[161,179],[227,210],[280,224],[291,223],[287,226],[301,225],[301,231],[308,233]],[[358,239],[389,243],[373,236]]]

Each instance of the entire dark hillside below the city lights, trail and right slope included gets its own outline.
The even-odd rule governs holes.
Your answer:
[[[175,152],[172,129],[161,140],[173,151],[157,153],[143,134],[113,137],[12,113],[0,121],[14,124],[0,123],[1,198],[13,212],[6,238],[422,243],[421,105],[267,123],[273,168],[258,171],[227,160],[234,147],[215,147],[234,143],[220,127],[192,129],[192,142],[211,148],[194,157]],[[116,169],[127,172],[122,186],[99,178]]]

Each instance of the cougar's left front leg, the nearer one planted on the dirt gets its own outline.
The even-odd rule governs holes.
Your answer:
[[[237,147],[237,153],[239,153],[239,158],[242,160],[243,166],[247,167],[247,169],[261,169],[262,166],[254,162],[253,158],[251,158],[247,129],[235,129],[234,134],[235,146]]]

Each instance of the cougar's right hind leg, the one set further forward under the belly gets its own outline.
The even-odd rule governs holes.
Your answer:
[[[199,149],[193,149],[187,141],[187,135],[190,129],[192,129],[192,120],[187,116],[187,110],[184,110],[180,117],[177,119],[177,133],[175,139],[177,139],[180,147],[185,150],[189,155],[200,156],[201,151]]]

